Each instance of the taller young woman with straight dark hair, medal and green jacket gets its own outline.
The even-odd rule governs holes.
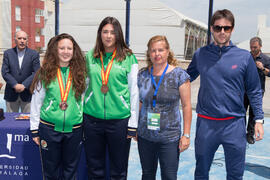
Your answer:
[[[138,120],[138,62],[116,18],[102,20],[86,63],[84,144],[89,179],[105,178],[106,147],[111,180],[127,179],[130,138],[136,137]]]

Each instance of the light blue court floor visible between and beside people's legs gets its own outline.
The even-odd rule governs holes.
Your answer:
[[[0,94],[0,108],[5,110],[3,94]],[[195,136],[196,114],[193,112],[191,128],[191,145],[188,150],[180,154],[179,170],[177,179],[191,180],[195,170],[194,136]],[[254,145],[247,145],[246,167],[244,180],[266,180],[270,179],[270,118],[265,118],[264,139]],[[137,143],[132,142],[129,159],[128,180],[141,179],[141,166],[137,151]],[[157,172],[160,178],[160,171]],[[215,160],[210,170],[210,180],[225,180],[226,170],[223,149],[220,147],[215,155]]]

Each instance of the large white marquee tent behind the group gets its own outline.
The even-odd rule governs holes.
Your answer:
[[[178,58],[184,58],[187,52],[185,43],[191,41],[190,46],[195,42],[192,40],[195,38],[190,37],[200,36],[200,41],[205,43],[207,25],[184,16],[158,0],[131,0],[130,8],[130,47],[137,56],[144,55],[148,40],[158,34],[167,36]],[[82,50],[88,51],[93,48],[98,25],[106,16],[116,17],[125,33],[125,13],[125,0],[66,0],[60,6],[59,32],[71,34]],[[45,17],[46,44],[54,36],[54,16],[51,13]]]

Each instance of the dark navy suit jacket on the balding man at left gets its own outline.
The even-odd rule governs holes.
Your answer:
[[[20,68],[17,48],[6,50],[4,52],[2,65],[2,76],[6,81],[4,99],[9,102],[14,102],[20,96],[22,101],[30,102],[32,95],[29,91],[29,87],[39,67],[40,61],[38,52],[26,47]],[[16,84],[23,84],[25,90],[21,93],[17,93],[13,88]]]

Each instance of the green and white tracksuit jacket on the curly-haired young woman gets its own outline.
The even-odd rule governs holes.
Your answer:
[[[66,73],[62,72],[62,79],[67,81],[69,68]],[[40,84],[38,85],[40,89]],[[30,130],[33,136],[38,133],[38,126],[41,123],[54,126],[54,130],[58,132],[72,132],[72,129],[79,127],[83,120],[83,102],[82,99],[76,100],[75,92],[70,87],[67,98],[68,108],[63,111],[60,109],[61,93],[57,77],[53,80],[47,89],[42,88],[37,91],[35,89],[32,95],[31,112],[30,112]]]

